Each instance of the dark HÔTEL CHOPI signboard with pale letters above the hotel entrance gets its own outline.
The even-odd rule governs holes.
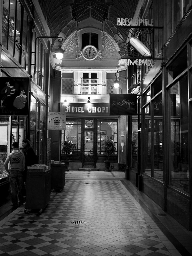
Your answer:
[[[67,116],[109,116],[107,103],[61,103],[60,110]]]

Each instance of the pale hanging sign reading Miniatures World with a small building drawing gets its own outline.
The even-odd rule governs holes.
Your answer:
[[[66,129],[66,112],[48,112],[48,130]]]

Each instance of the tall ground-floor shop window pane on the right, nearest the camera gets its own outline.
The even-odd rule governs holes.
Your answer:
[[[179,87],[175,90],[174,87]],[[170,88],[171,109],[171,170],[170,185],[189,195],[188,157],[188,78],[187,76]],[[172,94],[175,92],[174,94]],[[176,94],[178,93],[178,94]]]

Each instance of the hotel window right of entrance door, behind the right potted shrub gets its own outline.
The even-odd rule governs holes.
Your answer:
[[[104,145],[106,140],[113,140],[116,146],[115,155],[117,155],[117,122],[97,121],[97,154],[105,154]]]

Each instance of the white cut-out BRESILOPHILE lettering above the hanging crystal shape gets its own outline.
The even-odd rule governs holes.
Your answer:
[[[117,18],[117,26],[149,26],[153,27],[153,20],[149,19],[138,19],[138,20],[133,20],[129,18]]]

